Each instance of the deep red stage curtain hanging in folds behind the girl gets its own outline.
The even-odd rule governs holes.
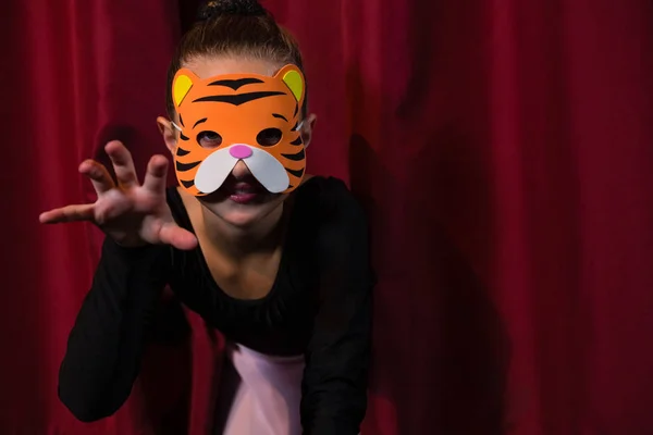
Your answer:
[[[77,164],[108,139],[138,167],[164,152],[155,117],[196,2],[180,4],[2,4],[3,434],[205,433],[220,338],[192,314],[115,417],[58,401],[100,234],[37,222],[93,199]],[[264,4],[307,59],[310,169],[370,215],[364,434],[653,433],[653,3]]]

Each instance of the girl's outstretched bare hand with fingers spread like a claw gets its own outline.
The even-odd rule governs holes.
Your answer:
[[[115,243],[125,247],[147,244],[172,245],[189,250],[197,246],[195,235],[180,227],[165,201],[168,159],[153,156],[143,184],[139,184],[132,154],[120,141],[107,144],[118,184],[107,169],[86,160],[79,172],[90,178],[98,194],[95,203],[72,204],[41,213],[46,224],[88,221],[96,224]]]

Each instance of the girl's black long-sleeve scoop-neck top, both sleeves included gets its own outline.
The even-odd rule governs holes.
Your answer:
[[[367,408],[371,289],[364,213],[344,183],[313,177],[294,207],[271,291],[241,300],[213,281],[199,248],[123,248],[110,238],[70,334],[59,397],[82,421],[113,414],[138,375],[164,286],[230,340],[268,355],[305,355],[305,434],[355,435]],[[176,188],[168,203],[193,227]]]

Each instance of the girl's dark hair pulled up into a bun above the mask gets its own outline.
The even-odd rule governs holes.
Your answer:
[[[182,65],[206,55],[245,55],[280,64],[294,64],[304,72],[301,52],[293,35],[279,25],[257,0],[214,0],[205,2],[197,22],[182,36],[168,70],[165,104],[172,119],[172,79]],[[303,115],[307,113],[304,100]]]

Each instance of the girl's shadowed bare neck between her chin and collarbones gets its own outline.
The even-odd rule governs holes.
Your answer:
[[[262,220],[246,227],[233,225],[202,209],[205,234],[211,245],[234,260],[251,253],[273,251],[283,232],[283,203]]]

